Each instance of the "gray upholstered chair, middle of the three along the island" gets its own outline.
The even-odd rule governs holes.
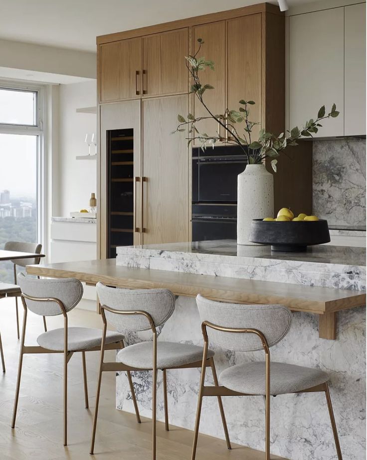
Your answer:
[[[96,407],[90,453],[94,453],[94,442],[98,416],[99,395],[103,371],[152,371],[152,459],[156,459],[156,425],[157,425],[157,372],[163,371],[165,428],[169,430],[167,404],[167,370],[210,367],[214,384],[218,385],[213,356],[214,352],[206,348],[205,360],[203,349],[190,344],[157,341],[157,328],[162,327],[175,310],[175,296],[167,289],[129,290],[117,289],[97,284],[98,298],[101,304],[103,320],[103,340],[97,383]],[[118,331],[126,336],[140,331],[152,331],[153,340],[129,345],[117,354],[118,363],[104,362],[104,344],[107,322],[112,323]],[[168,326],[167,326],[168,327]],[[219,411],[223,423],[228,449],[231,448],[224,411],[218,396]]]

